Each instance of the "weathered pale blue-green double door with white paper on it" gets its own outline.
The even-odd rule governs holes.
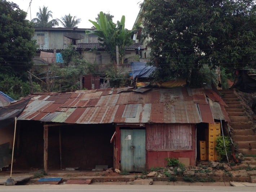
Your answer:
[[[121,129],[121,170],[143,172],[146,168],[145,129]]]

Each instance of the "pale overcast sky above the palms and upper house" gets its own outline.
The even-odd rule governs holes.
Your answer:
[[[79,28],[91,28],[93,24],[88,20],[95,21],[97,14],[110,13],[114,15],[113,22],[120,21],[125,16],[125,28],[131,30],[140,10],[143,0],[8,0],[19,5],[19,8],[27,12],[27,19],[36,18],[39,7],[48,6],[52,11],[53,19],[61,19],[70,13],[71,16],[81,18]],[[31,1],[31,6],[29,4]],[[31,11],[31,15],[30,15]],[[59,26],[62,27],[62,26]]]

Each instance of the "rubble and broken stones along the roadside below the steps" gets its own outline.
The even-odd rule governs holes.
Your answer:
[[[256,162],[254,157],[247,158]],[[244,166],[245,165],[245,166]],[[143,176],[141,175],[141,178]],[[226,163],[210,161],[193,167],[152,168],[145,178],[153,180],[188,181],[188,182],[222,182],[239,181],[256,183],[255,165],[243,162],[240,165],[229,166]]]

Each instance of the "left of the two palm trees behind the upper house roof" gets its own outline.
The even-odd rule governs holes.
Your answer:
[[[32,19],[35,27],[54,27],[59,24],[58,19],[49,21],[49,19],[52,18],[52,11],[48,10],[48,6],[43,6],[43,9],[39,7],[39,12],[36,13],[36,17],[37,18]]]

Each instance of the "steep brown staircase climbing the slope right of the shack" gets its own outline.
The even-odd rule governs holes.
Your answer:
[[[253,118],[247,115],[242,99],[233,89],[219,90],[220,96],[228,107],[231,123],[231,138],[237,152],[246,155],[256,155],[256,134],[253,127]]]

